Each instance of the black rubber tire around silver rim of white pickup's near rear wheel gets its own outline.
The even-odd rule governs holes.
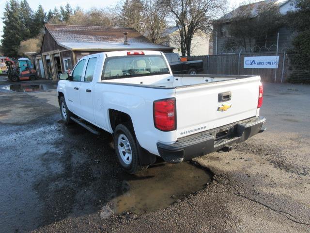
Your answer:
[[[123,135],[126,136],[126,138],[129,141],[130,148],[131,148],[131,162],[129,164],[126,164],[121,157],[120,151],[119,151],[119,146],[118,145],[118,139]],[[148,166],[140,166],[140,161],[139,161],[139,150],[138,150],[138,145],[136,141],[136,136],[133,133],[133,130],[129,125],[124,125],[124,124],[119,124],[116,126],[114,135],[114,148],[116,155],[118,157],[118,160],[121,164],[121,166],[124,168],[124,170],[129,173],[129,174],[135,174],[138,173],[139,171],[145,170]]]

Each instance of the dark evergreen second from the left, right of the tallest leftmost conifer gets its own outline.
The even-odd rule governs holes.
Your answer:
[[[20,21],[22,24],[21,33],[23,40],[31,38],[31,24],[32,24],[33,11],[30,8],[27,0],[20,1]]]

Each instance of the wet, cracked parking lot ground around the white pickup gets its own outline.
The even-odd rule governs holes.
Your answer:
[[[44,85],[24,93],[3,80],[0,232],[310,232],[309,85],[264,83],[267,131],[233,151],[127,176],[108,133],[62,124],[55,83],[17,83]],[[117,214],[127,185],[142,206],[163,205]]]

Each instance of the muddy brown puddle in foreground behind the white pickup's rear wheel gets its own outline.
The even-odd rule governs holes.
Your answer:
[[[144,214],[168,207],[174,201],[201,190],[210,182],[212,173],[189,162],[161,163],[137,175],[124,175],[110,208],[117,214],[124,211]],[[104,213],[110,213],[106,208]]]

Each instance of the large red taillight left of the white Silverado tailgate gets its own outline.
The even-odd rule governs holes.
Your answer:
[[[161,131],[176,129],[175,98],[154,101],[154,125]]]

